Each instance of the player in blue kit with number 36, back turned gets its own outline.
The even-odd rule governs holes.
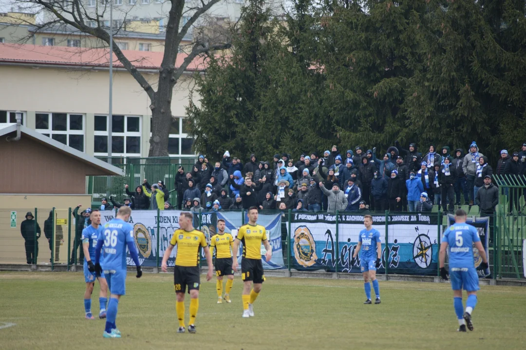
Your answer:
[[[95,248],[95,271],[99,273],[104,271],[111,293],[106,312],[106,327],[103,333],[105,338],[120,338],[120,331],[117,329],[115,319],[117,318],[120,296],[126,294],[126,247],[128,247],[130,256],[137,267],[137,278],[143,275],[135,248],[133,226],[128,224],[130,216],[130,207],[120,207],[116,218],[104,225]],[[104,254],[102,263],[99,262],[101,248],[103,248]]]

